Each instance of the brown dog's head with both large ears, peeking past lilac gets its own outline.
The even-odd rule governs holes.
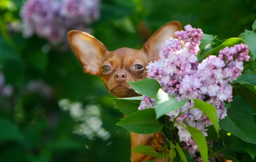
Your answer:
[[[138,94],[126,81],[145,79],[148,63],[159,60],[161,46],[170,37],[175,37],[178,30],[181,30],[179,22],[167,23],[140,50],[119,48],[108,51],[90,34],[76,30],[68,32],[68,40],[85,73],[101,77],[108,91],[116,97],[134,97]]]

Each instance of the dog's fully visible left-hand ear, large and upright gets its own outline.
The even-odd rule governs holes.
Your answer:
[[[67,38],[84,72],[100,76],[102,57],[107,51],[105,46],[90,34],[78,30],[69,31]]]

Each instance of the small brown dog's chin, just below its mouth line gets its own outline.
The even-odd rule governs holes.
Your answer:
[[[140,96],[133,89],[122,85],[112,88],[110,93],[119,98]]]

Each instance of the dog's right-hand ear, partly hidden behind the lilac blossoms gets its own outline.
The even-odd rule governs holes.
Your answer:
[[[171,21],[158,29],[144,44],[143,48],[150,57],[151,61],[158,60],[162,45],[170,37],[175,37],[175,31],[181,30],[178,21]]]

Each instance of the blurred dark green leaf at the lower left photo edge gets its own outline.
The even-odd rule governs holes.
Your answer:
[[[0,118],[0,141],[21,141],[23,140],[19,129],[7,119]]]

